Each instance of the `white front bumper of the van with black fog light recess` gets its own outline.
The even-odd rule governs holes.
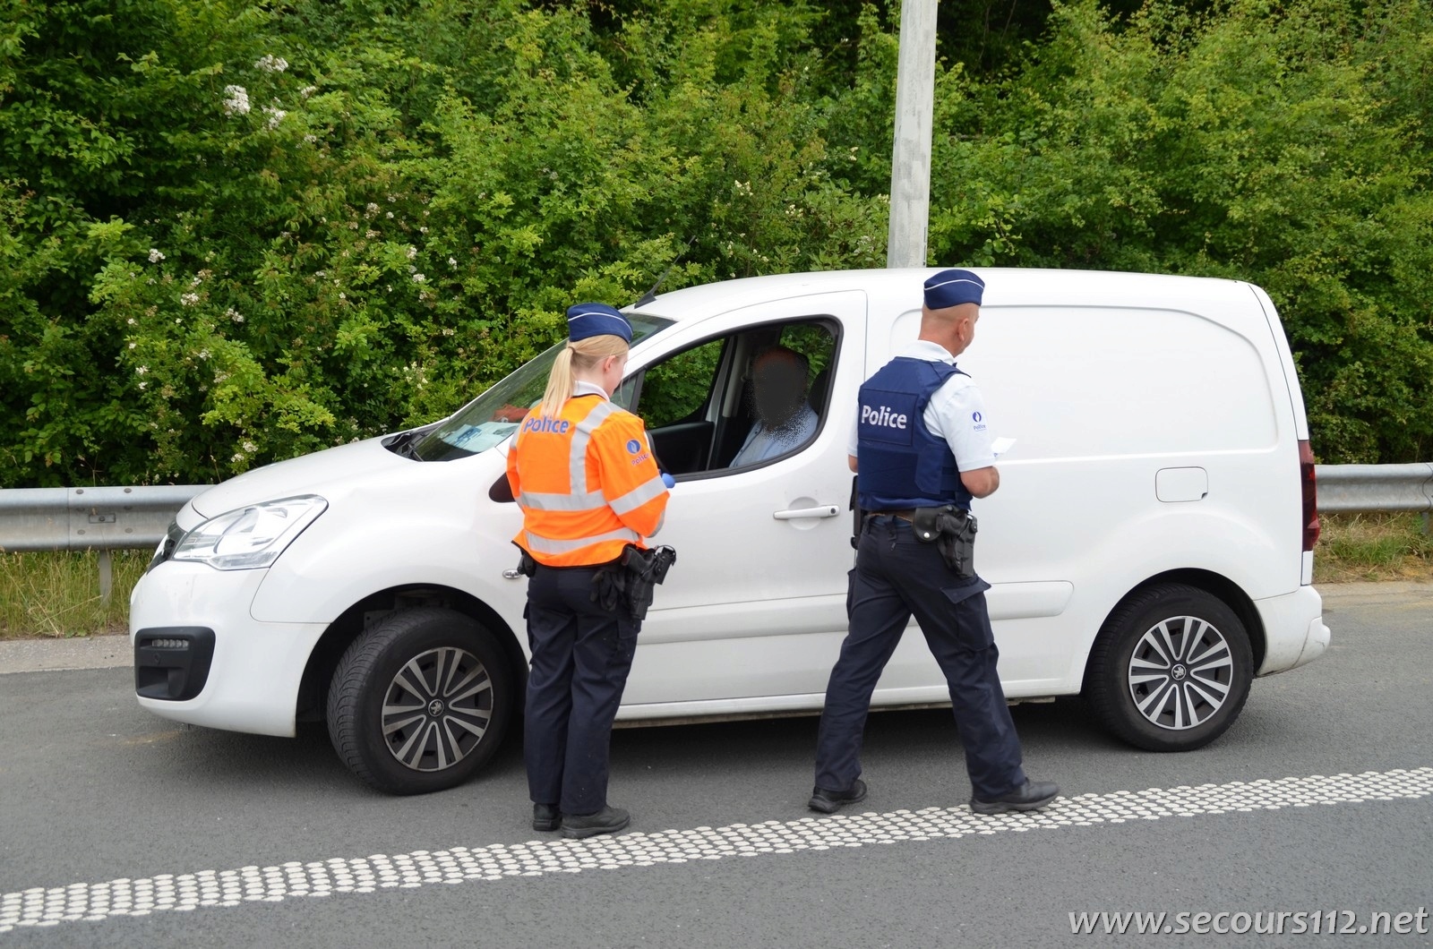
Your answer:
[[[166,561],[140,578],[129,642],[142,707],[193,725],[294,735],[298,685],[327,626],[254,619],[267,573]]]

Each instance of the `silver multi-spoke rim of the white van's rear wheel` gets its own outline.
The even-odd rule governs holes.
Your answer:
[[[1171,616],[1135,644],[1128,681],[1129,697],[1145,721],[1185,731],[1224,708],[1234,684],[1234,655],[1209,621]]]

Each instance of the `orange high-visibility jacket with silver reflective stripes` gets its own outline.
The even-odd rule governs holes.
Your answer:
[[[557,417],[533,409],[507,453],[523,509],[513,538],[546,566],[608,563],[645,548],[666,510],[666,485],[642,420],[600,396],[569,399]]]

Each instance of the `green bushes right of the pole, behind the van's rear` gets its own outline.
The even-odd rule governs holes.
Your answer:
[[[943,76],[931,255],[1255,282],[1320,460],[1427,457],[1429,36],[1419,0],[1059,6],[1019,73]]]

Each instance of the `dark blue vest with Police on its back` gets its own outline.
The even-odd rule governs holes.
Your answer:
[[[930,397],[956,373],[964,376],[946,363],[898,356],[861,386],[857,492],[864,510],[970,509],[956,456],[923,419]]]

